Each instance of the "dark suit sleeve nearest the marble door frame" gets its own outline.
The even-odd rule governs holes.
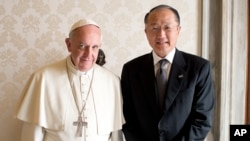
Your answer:
[[[191,126],[185,134],[185,141],[203,141],[213,119],[214,89],[209,62],[199,70],[191,112]]]

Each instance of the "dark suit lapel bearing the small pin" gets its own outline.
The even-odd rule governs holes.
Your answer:
[[[169,80],[167,84],[167,94],[165,101],[165,111],[169,109],[179,94],[183,80],[186,77],[186,62],[180,51],[176,49],[175,57],[171,66]]]

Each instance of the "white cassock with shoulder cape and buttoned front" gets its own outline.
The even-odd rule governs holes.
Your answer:
[[[81,116],[88,125],[77,137],[73,123],[83,106]],[[122,140],[111,137],[124,123],[120,79],[99,65],[79,72],[69,56],[30,77],[16,116],[24,121],[22,141]]]

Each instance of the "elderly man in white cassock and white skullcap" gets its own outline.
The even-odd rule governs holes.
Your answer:
[[[33,73],[23,90],[21,141],[122,140],[120,79],[95,63],[100,26],[79,20],[65,42],[70,55]]]

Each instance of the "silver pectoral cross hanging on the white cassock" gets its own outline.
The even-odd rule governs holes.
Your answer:
[[[77,129],[76,129],[76,136],[77,137],[82,137],[82,128],[84,126],[84,138],[86,140],[86,128],[88,126],[88,122],[83,121],[82,116],[79,116],[78,120],[73,122],[73,125],[77,126]]]

